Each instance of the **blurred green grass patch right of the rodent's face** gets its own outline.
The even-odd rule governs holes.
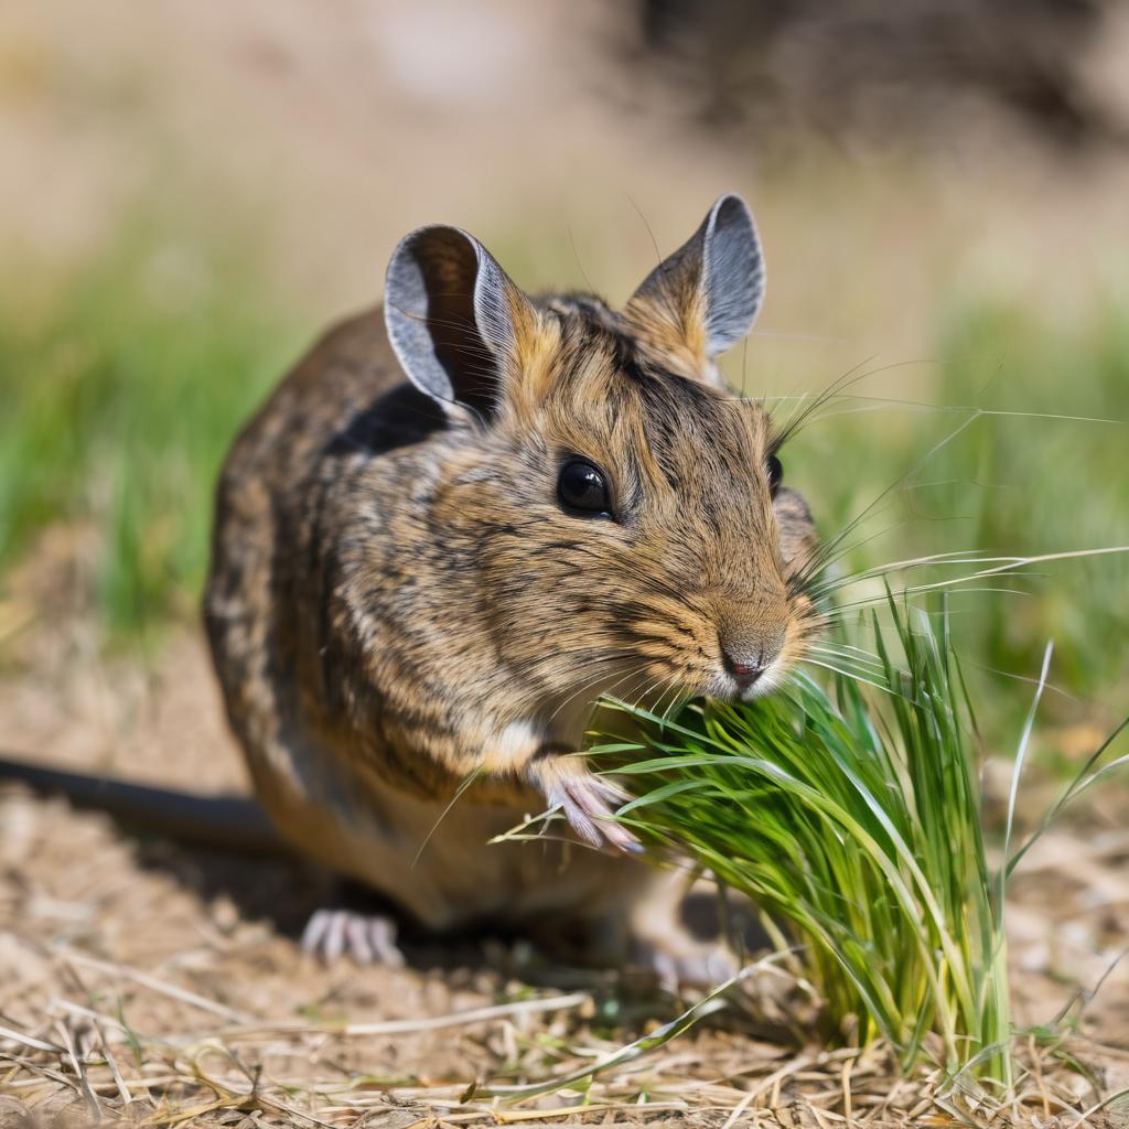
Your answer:
[[[829,410],[842,414],[813,422],[791,444],[790,462],[825,535],[881,499],[837,567],[851,572],[952,552],[1033,557],[1129,545],[1124,307],[1109,301],[1079,324],[1049,325],[1018,304],[953,295],[933,332],[935,356],[944,360],[929,366],[926,403],[907,410],[847,399]],[[928,584],[972,571],[921,568],[898,578]],[[1127,557],[1017,571],[952,597],[954,639],[988,699],[987,718],[1014,726],[1032,690],[1021,680],[1038,675],[1048,640],[1065,695],[1123,709]],[[1065,695],[1052,694],[1047,707],[1061,724],[1084,712]]]

